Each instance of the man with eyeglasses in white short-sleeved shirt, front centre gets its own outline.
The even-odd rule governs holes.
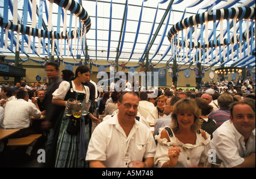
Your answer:
[[[136,92],[123,93],[118,113],[95,128],[85,159],[90,167],[125,168],[130,161],[154,165],[156,144],[150,129],[135,119],[138,104]]]

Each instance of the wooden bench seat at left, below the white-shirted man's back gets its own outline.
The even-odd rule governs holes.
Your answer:
[[[10,147],[28,146],[33,141],[39,139],[41,136],[42,134],[31,134],[24,138],[8,139],[7,145],[9,145]]]

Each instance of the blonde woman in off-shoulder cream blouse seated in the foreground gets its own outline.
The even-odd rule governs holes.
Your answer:
[[[180,99],[172,111],[172,126],[160,128],[155,164],[162,168],[203,166],[210,135],[201,130],[200,109],[193,99]]]

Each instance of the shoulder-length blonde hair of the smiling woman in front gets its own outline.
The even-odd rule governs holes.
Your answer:
[[[192,113],[194,118],[194,123],[191,126],[192,131],[199,131],[201,128],[201,120],[200,115],[201,111],[199,107],[196,105],[196,102],[193,99],[184,98],[177,101],[174,105],[174,110],[172,111],[171,118],[172,118],[172,130],[174,132],[179,132],[179,123],[177,122],[177,114],[179,113]]]

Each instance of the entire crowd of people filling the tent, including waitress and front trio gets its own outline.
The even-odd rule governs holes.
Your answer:
[[[122,91],[114,82],[99,93],[85,65],[75,74],[60,73],[55,63],[45,68],[47,86],[27,86],[26,81],[2,86],[0,127],[19,128],[13,137],[23,137],[38,132],[31,127],[30,116],[45,116],[40,128],[47,133],[46,167],[122,168],[131,161],[149,168],[204,167],[210,149],[225,167],[255,167],[252,79],[243,81],[246,88],[218,81],[205,89],[159,88],[152,96],[152,91],[134,90],[130,81]],[[79,118],[66,115],[70,98],[90,99],[89,113]],[[99,115],[104,115],[103,121]],[[35,143],[25,156],[31,155]]]

